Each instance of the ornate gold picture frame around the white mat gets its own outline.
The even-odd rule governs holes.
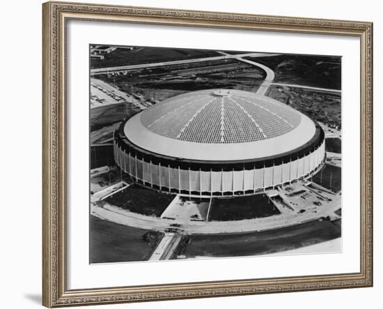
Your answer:
[[[42,303],[47,307],[233,296],[373,285],[373,24],[233,13],[47,2],[42,6]],[[357,36],[361,40],[359,273],[68,290],[65,208],[65,22],[70,19]]]

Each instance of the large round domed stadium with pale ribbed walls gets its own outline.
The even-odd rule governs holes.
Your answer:
[[[325,160],[313,120],[267,96],[192,91],[124,121],[116,164],[137,183],[187,195],[244,195],[311,176]]]

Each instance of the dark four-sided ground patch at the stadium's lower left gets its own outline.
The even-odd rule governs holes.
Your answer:
[[[173,194],[159,193],[156,190],[133,185],[104,199],[104,201],[123,209],[129,209],[133,213],[159,217],[174,197]]]

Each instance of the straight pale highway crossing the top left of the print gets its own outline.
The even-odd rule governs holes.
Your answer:
[[[156,66],[173,66],[175,64],[195,63],[203,61],[216,61],[223,59],[236,59],[237,57],[256,57],[256,56],[274,56],[275,54],[260,54],[259,52],[249,52],[247,54],[224,54],[223,56],[213,56],[205,58],[187,59],[187,60],[175,60],[175,61],[163,61],[156,63],[141,63],[133,64],[130,66],[114,66],[111,68],[93,68],[91,75],[100,75],[105,73],[114,73],[122,70],[134,70],[137,68],[154,68]]]

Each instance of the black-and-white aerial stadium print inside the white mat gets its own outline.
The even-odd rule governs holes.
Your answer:
[[[342,57],[89,46],[89,262],[342,252]]]

